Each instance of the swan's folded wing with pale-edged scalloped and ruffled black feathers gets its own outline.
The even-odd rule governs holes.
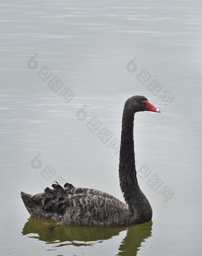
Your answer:
[[[32,199],[47,213],[60,214],[68,224],[83,224],[85,221],[106,223],[126,207],[114,196],[96,189],[75,188],[70,183],[66,183],[64,188],[53,184],[52,188],[46,188],[44,193],[34,195]]]

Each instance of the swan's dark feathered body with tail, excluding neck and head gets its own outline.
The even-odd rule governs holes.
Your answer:
[[[21,192],[31,217],[56,221],[59,225],[106,226],[128,223],[127,205],[96,189],[75,188],[66,183],[31,196]]]

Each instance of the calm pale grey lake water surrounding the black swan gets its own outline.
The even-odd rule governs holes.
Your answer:
[[[201,1],[0,5],[1,255],[201,255]],[[20,191],[55,180],[123,200],[117,145],[132,95],[162,112],[135,115],[152,221],[51,232],[30,218]]]

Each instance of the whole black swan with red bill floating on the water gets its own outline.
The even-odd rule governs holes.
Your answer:
[[[53,189],[21,198],[31,217],[55,221],[56,226],[120,226],[140,224],[152,219],[152,207],[138,186],[134,156],[134,114],[138,111],[160,113],[144,96],[127,99],[122,115],[119,180],[126,204],[96,189],[75,188],[58,183]]]

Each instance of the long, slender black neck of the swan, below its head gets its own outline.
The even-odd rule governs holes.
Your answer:
[[[137,218],[142,217],[151,219],[152,208],[150,207],[146,196],[141,192],[136,177],[133,128],[134,113],[130,113],[125,105],[122,116],[119,158],[119,180],[121,191],[132,214],[137,216]]]

